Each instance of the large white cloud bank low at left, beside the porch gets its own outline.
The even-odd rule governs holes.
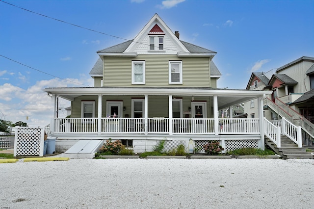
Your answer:
[[[73,82],[76,83],[73,83]],[[58,78],[39,80],[26,90],[9,83],[0,85],[0,110],[5,115],[5,120],[16,123],[27,122],[31,127],[43,127],[51,123],[52,100],[43,91],[47,87],[81,87],[77,83],[93,86],[93,79],[87,75],[79,78]],[[59,107],[70,106],[70,102],[59,98]],[[28,121],[26,121],[28,116]],[[60,117],[66,117],[66,111],[59,111]]]

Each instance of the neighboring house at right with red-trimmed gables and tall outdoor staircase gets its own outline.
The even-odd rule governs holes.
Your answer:
[[[301,125],[303,139],[309,138],[309,143],[303,141],[303,144],[314,146],[314,57],[302,56],[275,72],[252,73],[246,89],[272,91],[264,100],[263,116],[268,120],[286,118]],[[256,102],[255,99],[244,105],[244,111],[251,118],[259,117]]]

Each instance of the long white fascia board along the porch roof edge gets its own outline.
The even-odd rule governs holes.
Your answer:
[[[182,95],[182,96],[263,96],[271,91],[223,89],[167,89],[167,88],[47,88],[43,91],[62,95]]]

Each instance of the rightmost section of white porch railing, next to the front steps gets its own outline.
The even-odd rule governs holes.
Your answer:
[[[219,119],[220,133],[259,134],[259,118]]]

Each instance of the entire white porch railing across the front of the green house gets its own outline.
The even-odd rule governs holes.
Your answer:
[[[54,133],[214,134],[213,118],[55,118]],[[260,134],[259,119],[219,119],[219,133]],[[147,123],[147,124],[145,124]],[[100,129],[100,130],[98,130]]]

